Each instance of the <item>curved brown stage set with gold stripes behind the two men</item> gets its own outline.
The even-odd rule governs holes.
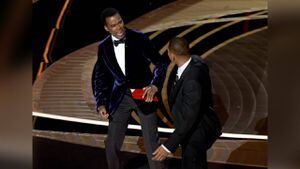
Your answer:
[[[204,2],[189,5],[204,8]],[[189,2],[189,1],[187,1]],[[191,53],[202,57],[210,67],[213,85],[214,108],[223,123],[223,134],[209,151],[210,162],[266,167],[267,165],[267,18],[266,6],[234,6],[211,14],[194,15],[189,10],[181,13],[189,19],[159,22],[154,13],[166,15],[174,10],[170,3],[128,23],[145,32],[166,57],[168,41],[184,37]],[[228,5],[228,4],[227,4]],[[230,4],[229,4],[230,5]],[[217,8],[217,7],[216,7]],[[235,9],[236,10],[233,10]],[[195,11],[193,11],[195,12]],[[196,18],[195,18],[196,16]],[[182,17],[182,18],[184,18]],[[187,17],[188,18],[188,17]],[[142,23],[146,22],[147,26]],[[163,18],[162,18],[163,20]],[[64,142],[104,148],[107,121],[95,115],[92,92],[93,67],[97,59],[97,45],[91,43],[53,62],[44,69],[33,85],[34,136]],[[152,65],[149,65],[152,67]],[[165,139],[173,131],[173,121],[166,96],[166,83],[173,65],[168,68],[161,93],[162,103],[156,111],[159,132]],[[132,112],[123,150],[144,153],[140,133],[140,121]],[[250,152],[248,150],[251,150]],[[255,154],[253,156],[253,153]],[[180,149],[171,157],[180,158]],[[251,157],[251,158],[249,158]]]

